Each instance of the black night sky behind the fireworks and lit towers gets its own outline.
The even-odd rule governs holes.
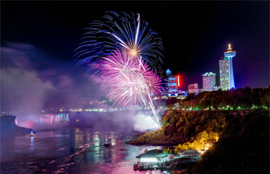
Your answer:
[[[236,51],[236,88],[269,85],[269,1],[2,1],[1,69],[34,71],[41,83],[52,88],[61,88],[62,78],[74,93],[78,90],[74,88],[92,86],[85,79],[85,67],[75,67],[72,56],[83,28],[106,11],[140,13],[162,38],[163,71],[169,68],[173,75],[181,74],[182,90],[191,83],[202,88],[205,72],[219,77],[219,59],[229,43]],[[65,83],[62,87],[68,88]]]

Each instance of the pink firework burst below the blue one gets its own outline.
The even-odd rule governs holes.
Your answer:
[[[108,97],[120,106],[148,105],[150,94],[161,92],[160,76],[150,71],[146,62],[115,51],[103,58],[101,67],[103,85]]]

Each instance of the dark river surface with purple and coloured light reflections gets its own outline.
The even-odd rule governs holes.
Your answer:
[[[136,156],[152,146],[131,146],[132,133],[59,128],[1,140],[2,173],[162,173],[134,171]],[[111,146],[103,146],[110,143]]]

